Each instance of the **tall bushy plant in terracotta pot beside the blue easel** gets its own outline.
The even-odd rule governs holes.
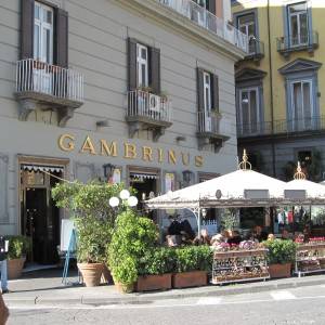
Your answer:
[[[74,182],[57,184],[52,190],[56,206],[75,214],[77,265],[86,286],[99,285],[106,268],[106,250],[118,213],[108,202],[122,188],[122,184]]]

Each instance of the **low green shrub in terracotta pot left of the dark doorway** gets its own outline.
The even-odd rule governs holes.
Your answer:
[[[30,238],[26,236],[5,236],[9,240],[8,249],[8,278],[17,278],[22,275],[26,255],[30,251]]]

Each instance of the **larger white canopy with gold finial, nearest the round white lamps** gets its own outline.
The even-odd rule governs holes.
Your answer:
[[[234,172],[195,184],[146,202],[150,208],[229,206],[231,203],[249,203],[250,206],[266,206],[268,202],[283,198],[285,182],[250,169]],[[251,203],[251,202],[255,203]],[[259,203],[260,202],[260,203]],[[261,204],[261,202],[263,202]],[[245,205],[244,205],[245,206]]]

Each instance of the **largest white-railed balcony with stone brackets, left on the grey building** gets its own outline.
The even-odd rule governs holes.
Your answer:
[[[21,102],[21,120],[37,107],[55,109],[63,127],[83,104],[83,76],[37,60],[22,60],[16,64],[15,96]]]

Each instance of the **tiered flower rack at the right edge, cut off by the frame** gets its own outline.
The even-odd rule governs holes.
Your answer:
[[[296,253],[295,273],[303,274],[325,271],[325,242],[299,244]]]

